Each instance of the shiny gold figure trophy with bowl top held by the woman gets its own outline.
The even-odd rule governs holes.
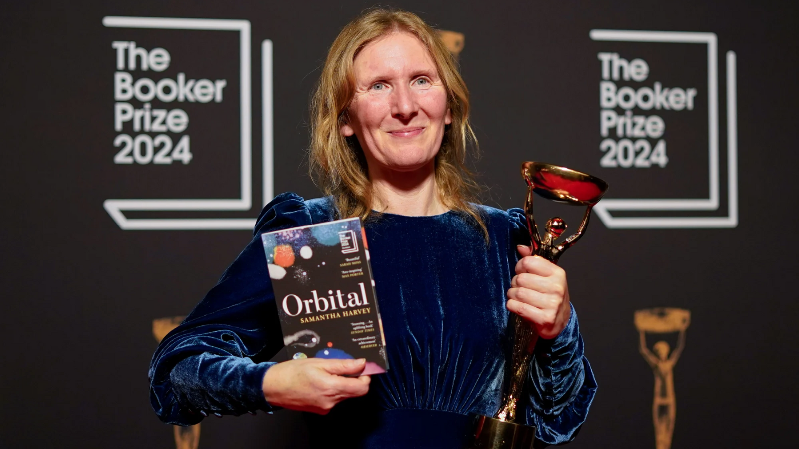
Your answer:
[[[527,181],[524,212],[533,254],[557,264],[563,252],[586,232],[591,209],[605,194],[607,183],[587,173],[542,162],[524,162],[522,176]],[[534,192],[551,201],[587,206],[577,232],[558,244],[558,238],[566,230],[566,221],[561,217],[552,217],[547,221],[547,233],[542,238],[533,217]],[[510,364],[506,366],[502,403],[493,417],[476,417],[470,449],[530,449],[535,441],[535,426],[524,423],[525,417],[518,416],[516,411],[519,401],[527,397],[524,386],[539,336],[532,324],[515,314],[511,314],[509,326],[513,348]]]

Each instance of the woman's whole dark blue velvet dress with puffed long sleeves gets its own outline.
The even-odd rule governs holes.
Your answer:
[[[509,350],[506,294],[516,244],[530,237],[521,209],[479,208],[490,244],[454,211],[384,213],[364,225],[390,369],[372,376],[367,395],[328,415],[306,414],[313,447],[461,449],[470,415],[498,410]],[[150,399],[163,421],[277,408],[261,391],[273,365],[266,360],[283,337],[260,234],[334,218],[329,197],[283,193],[264,207],[250,244],[153,356]],[[566,443],[596,391],[574,309],[559,336],[539,340],[532,364],[519,415],[538,427],[539,445]]]

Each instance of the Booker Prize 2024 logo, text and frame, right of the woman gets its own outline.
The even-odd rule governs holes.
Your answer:
[[[614,187],[594,208],[602,222],[609,228],[737,226],[735,54],[725,58],[727,151],[720,154],[715,34],[592,30],[590,38],[601,44],[595,174]]]

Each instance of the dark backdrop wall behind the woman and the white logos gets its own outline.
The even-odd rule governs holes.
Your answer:
[[[2,320],[0,447],[174,447],[149,406],[153,319],[181,316],[250,239],[245,230],[122,230],[109,198],[236,198],[240,83],[233,31],[131,30],[105,16],[225,18],[252,24],[252,191],[243,212],[130,212],[129,218],[252,218],[261,201],[260,46],[273,42],[274,191],[316,197],[306,176],[307,105],[327,47],[372,2],[13,2],[2,8]],[[732,217],[710,228],[613,228],[594,217],[562,259],[599,390],[572,447],[653,447],[653,375],[634,311],[690,310],[674,368],[673,447],[783,447],[797,416],[793,183],[797,7],[793,2],[399,2],[465,35],[460,54],[483,157],[484,201],[522,205],[519,162],[574,166],[613,198],[702,198],[708,187],[707,46],[595,42],[590,30],[718,37],[718,209],[614,217]],[[164,47],[171,66],[134,78],[227,80],[221,103],[190,117],[189,164],[118,165],[113,41]],[[725,54],[737,56],[737,181],[728,189]],[[643,58],[635,89],[698,89],[693,110],[662,111],[665,167],[603,168],[599,52]],[[141,108],[141,101],[131,101]],[[622,109],[616,109],[623,113]],[[634,109],[651,115],[653,110]],[[129,126],[129,125],[126,125]],[[615,141],[619,137],[611,131]],[[129,128],[125,133],[131,133]],[[135,134],[135,133],[132,133]],[[150,133],[155,136],[155,133]],[[652,146],[658,139],[649,139]],[[734,142],[733,142],[734,143]],[[614,187],[616,189],[614,190]],[[541,204],[541,201],[539,201]],[[734,206],[733,208],[734,209]],[[550,209],[542,209],[542,216]],[[567,211],[572,224],[578,212]],[[658,336],[650,336],[649,343]],[[674,346],[674,336],[665,336]],[[205,419],[201,447],[304,447],[292,411]]]

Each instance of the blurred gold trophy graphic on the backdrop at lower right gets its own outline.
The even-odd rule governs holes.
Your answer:
[[[654,399],[652,421],[656,449],[669,449],[674,434],[674,419],[677,416],[677,397],[674,395],[674,365],[686,345],[686,329],[691,314],[682,308],[646,308],[635,312],[635,328],[638,329],[639,350],[654,372]],[[677,348],[670,351],[666,340],[646,345],[646,333],[666,334],[679,332]]]

